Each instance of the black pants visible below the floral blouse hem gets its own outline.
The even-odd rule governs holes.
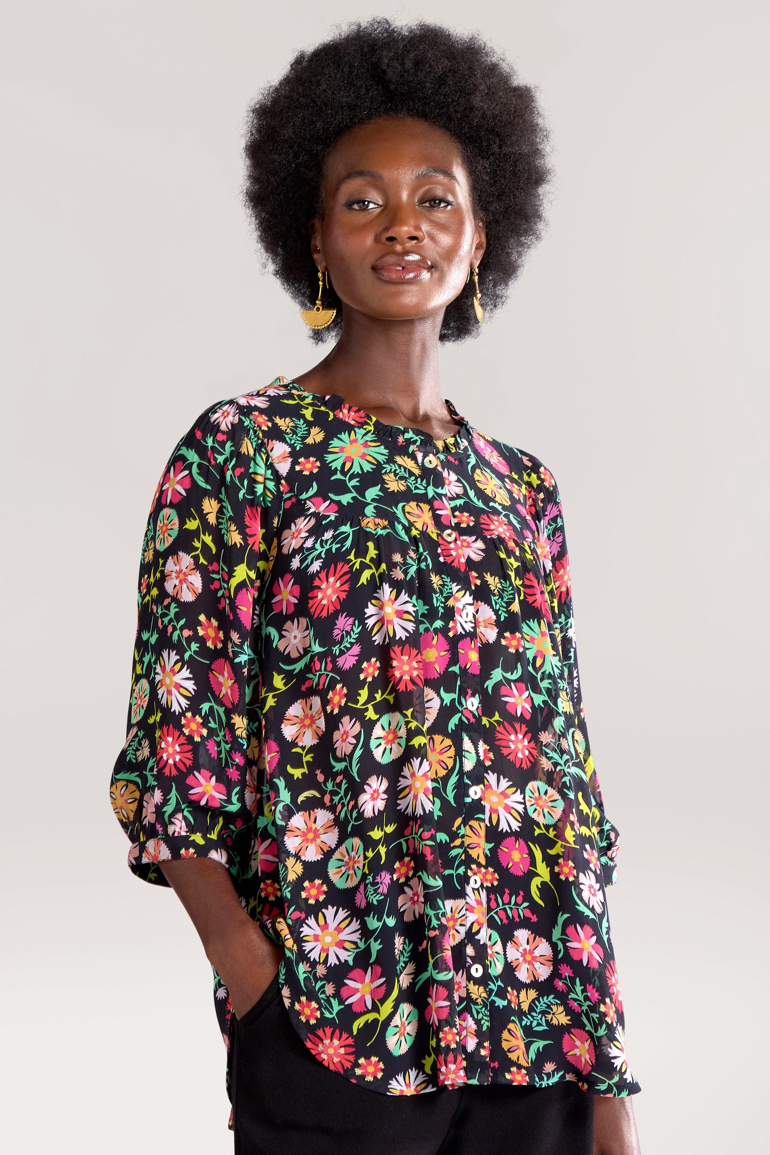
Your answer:
[[[233,1023],[236,1155],[591,1155],[593,1096],[553,1087],[382,1095],[328,1071],[297,1035],[278,978]]]

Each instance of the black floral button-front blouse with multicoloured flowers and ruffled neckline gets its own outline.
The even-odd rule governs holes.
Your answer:
[[[559,490],[446,403],[438,440],[279,377],[182,437],[112,805],[139,878],[227,867],[330,1071],[634,1094]]]

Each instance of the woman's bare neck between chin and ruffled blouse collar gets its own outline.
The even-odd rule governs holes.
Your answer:
[[[346,310],[334,349],[307,373],[294,378],[304,389],[335,393],[353,405],[420,424],[446,423],[439,382],[442,314],[410,321],[383,321]]]

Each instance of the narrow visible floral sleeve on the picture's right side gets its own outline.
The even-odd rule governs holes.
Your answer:
[[[619,833],[618,828],[612,825],[605,813],[604,799],[591,754],[591,744],[585,721],[585,708],[583,706],[583,693],[577,663],[569,553],[567,550],[561,497],[553,474],[545,465],[540,467],[537,482],[536,507],[540,519],[538,529],[547,549],[545,566],[546,591],[559,638],[561,662],[569,695],[565,706],[567,711],[571,713],[575,718],[571,743],[575,754],[583,766],[586,784],[590,790],[592,803],[591,825],[596,830],[604,882],[605,886],[611,886],[615,881]]]

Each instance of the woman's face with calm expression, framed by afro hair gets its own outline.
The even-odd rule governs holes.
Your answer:
[[[441,318],[486,245],[455,139],[425,120],[359,125],[329,150],[322,191],[313,258],[345,316]]]

